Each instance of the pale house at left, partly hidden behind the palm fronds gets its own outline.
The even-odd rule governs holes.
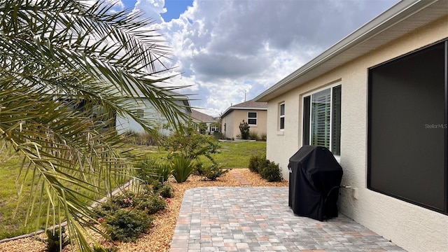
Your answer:
[[[183,109],[182,112],[190,115],[192,111],[190,107],[190,100],[188,99],[188,97],[182,94],[177,94],[175,92],[172,93],[173,93],[172,96],[176,98],[174,102],[182,107]],[[156,110],[146,97],[141,96],[139,99],[141,99],[142,102],[139,101],[135,103],[135,109],[137,114],[140,116],[144,116],[144,118],[149,118],[153,120],[156,124],[155,127],[158,127],[160,134],[164,135],[169,134],[170,130],[164,128],[164,125],[167,123],[167,119],[165,118],[165,116],[162,116],[162,113]],[[139,125],[130,116],[125,117],[116,116],[116,127],[118,132],[126,132],[126,131],[144,132],[143,127],[141,127],[141,125]]]

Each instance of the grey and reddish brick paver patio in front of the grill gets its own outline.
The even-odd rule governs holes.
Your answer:
[[[295,216],[285,187],[187,190],[170,252],[405,251],[345,216]]]

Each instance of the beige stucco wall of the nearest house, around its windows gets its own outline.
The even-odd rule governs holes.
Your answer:
[[[268,102],[267,158],[288,178],[288,159],[302,146],[302,94],[336,81],[342,84],[339,209],[408,251],[448,251],[448,216],[367,189],[367,69],[448,37],[448,16],[379,50],[326,73]],[[278,104],[285,102],[285,130],[277,130]]]

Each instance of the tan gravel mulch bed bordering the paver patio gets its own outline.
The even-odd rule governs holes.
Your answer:
[[[240,175],[240,176],[238,176]],[[239,177],[239,178],[238,178]],[[248,183],[241,183],[241,179]],[[190,176],[184,183],[176,183],[172,181],[172,186],[175,190],[172,202],[164,211],[155,214],[153,226],[148,234],[143,235],[135,242],[113,242],[107,241],[97,234],[94,239],[99,241],[104,247],[118,247],[119,252],[125,251],[151,251],[151,252],[166,252],[169,251],[174,229],[176,228],[177,216],[181,209],[183,194],[186,190],[205,186],[288,186],[288,181],[282,182],[267,182],[248,169],[234,169],[233,172],[218,178],[217,181],[203,181],[200,176]],[[44,238],[43,235],[40,238]],[[92,243],[93,244],[93,243]],[[0,252],[43,252],[45,251],[45,244],[38,241],[36,237],[18,239],[15,241],[8,241],[0,244]],[[72,251],[71,246],[66,246],[63,252]]]

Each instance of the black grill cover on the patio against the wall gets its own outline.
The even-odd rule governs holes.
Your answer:
[[[323,221],[337,217],[342,167],[328,148],[303,146],[289,159],[289,207]]]

